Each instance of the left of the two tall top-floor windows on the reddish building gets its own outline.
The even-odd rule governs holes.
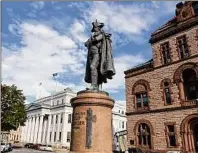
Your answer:
[[[167,64],[171,61],[169,43],[166,42],[161,45],[163,63]]]

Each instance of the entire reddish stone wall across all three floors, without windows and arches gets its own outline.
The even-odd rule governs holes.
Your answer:
[[[180,60],[178,49],[176,45],[177,37],[186,35],[187,43],[189,45],[190,57]],[[128,71],[125,75],[126,86],[126,111],[127,111],[127,130],[128,130],[128,143],[130,140],[134,140],[136,144],[135,125],[140,121],[148,121],[153,127],[152,144],[154,150],[171,150],[167,147],[165,136],[165,123],[175,122],[178,147],[174,147],[174,150],[181,150],[182,138],[180,134],[180,127],[182,121],[191,114],[197,114],[198,106],[192,106],[191,108],[181,107],[179,86],[174,82],[174,74],[176,70],[187,63],[196,63],[198,69],[198,26],[190,28],[182,33],[178,33],[157,43],[152,44],[153,49],[153,61],[154,66],[149,68],[139,69],[137,71]],[[171,48],[171,63],[168,65],[162,65],[162,57],[160,51],[160,45],[169,41]],[[163,88],[161,83],[164,79],[170,80],[171,90],[171,105],[165,105],[163,97]],[[138,113],[135,108],[135,95],[133,93],[133,86],[138,80],[145,80],[149,97],[149,111]],[[139,87],[142,88],[142,87]],[[140,89],[141,90],[141,89]],[[174,109],[179,108],[179,109]],[[157,111],[158,110],[158,111]]]

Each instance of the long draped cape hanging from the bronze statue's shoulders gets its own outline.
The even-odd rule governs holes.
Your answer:
[[[115,67],[112,55],[111,46],[111,34],[102,32],[103,39],[100,47],[100,62],[98,66],[98,85],[102,83],[107,83],[107,79],[112,79],[115,75]],[[88,49],[85,82],[91,83],[91,69],[90,69],[91,59],[90,50]]]

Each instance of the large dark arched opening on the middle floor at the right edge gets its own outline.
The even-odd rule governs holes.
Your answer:
[[[198,79],[193,69],[185,69],[182,73],[186,100],[198,99]]]

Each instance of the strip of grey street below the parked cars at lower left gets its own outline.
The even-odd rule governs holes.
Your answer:
[[[18,148],[18,149],[13,149],[9,153],[66,153],[67,151],[54,151],[54,152],[49,152],[49,151],[40,151],[40,150],[35,150],[35,149],[29,149],[29,148]]]

